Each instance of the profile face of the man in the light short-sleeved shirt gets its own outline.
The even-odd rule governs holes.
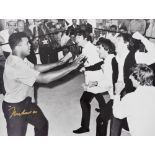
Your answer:
[[[28,38],[22,38],[21,42],[17,46],[20,47],[20,52],[23,56],[28,56],[30,54],[30,43]]]

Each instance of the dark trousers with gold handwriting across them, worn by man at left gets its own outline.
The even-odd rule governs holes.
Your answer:
[[[2,108],[8,136],[25,136],[28,123],[34,126],[35,136],[48,135],[48,121],[41,109],[31,102],[30,97],[19,103],[3,101]]]

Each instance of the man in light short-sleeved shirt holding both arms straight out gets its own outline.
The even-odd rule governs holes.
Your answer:
[[[3,101],[3,112],[7,122],[7,133],[10,136],[24,136],[27,124],[35,127],[36,136],[48,135],[48,121],[41,109],[33,104],[33,85],[49,83],[57,80],[79,66],[81,57],[72,65],[61,70],[46,72],[62,62],[47,65],[33,65],[26,59],[30,54],[30,44],[27,35],[23,32],[14,33],[9,38],[12,49],[5,63],[4,87],[6,94]]]

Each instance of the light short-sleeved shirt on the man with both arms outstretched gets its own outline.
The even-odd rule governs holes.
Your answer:
[[[4,86],[6,94],[4,101],[16,103],[23,101],[27,96],[33,98],[32,86],[39,73],[34,70],[34,65],[26,58],[23,61],[17,56],[10,55],[5,63]]]

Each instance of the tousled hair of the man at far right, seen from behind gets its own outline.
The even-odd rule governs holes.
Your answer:
[[[131,75],[140,82],[141,86],[153,85],[153,70],[146,64],[137,64],[131,69]]]

